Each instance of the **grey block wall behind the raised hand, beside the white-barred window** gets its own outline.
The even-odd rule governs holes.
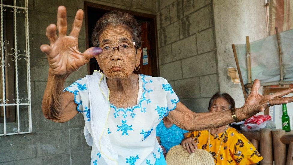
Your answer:
[[[87,0],[116,8],[156,14],[155,0]],[[41,44],[49,44],[45,36],[46,27],[56,23],[59,5],[67,8],[68,30],[74,20],[77,9],[84,9],[83,0],[29,0],[29,35],[32,88],[32,133],[0,136],[0,165],[31,164],[88,164],[91,147],[83,136],[83,116],[65,123],[55,123],[44,118],[41,102],[48,76],[48,62],[41,52]],[[86,49],[85,23],[79,35],[79,48]],[[87,74],[87,66],[70,75],[65,86]]]

